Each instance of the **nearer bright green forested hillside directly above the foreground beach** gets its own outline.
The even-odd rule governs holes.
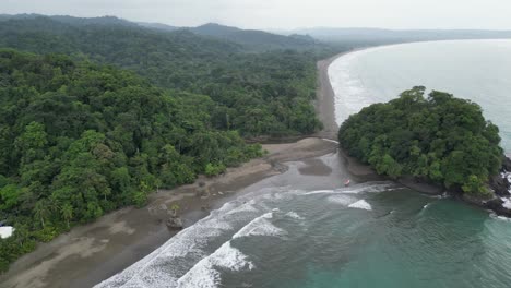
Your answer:
[[[36,241],[144,205],[156,187],[260,156],[212,127],[215,106],[112,67],[0,50],[0,217],[16,228],[0,240],[0,271]]]

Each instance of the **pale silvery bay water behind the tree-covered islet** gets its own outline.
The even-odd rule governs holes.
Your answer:
[[[416,85],[479,104],[511,152],[511,40],[416,43],[348,53],[330,67],[336,117],[388,101]]]

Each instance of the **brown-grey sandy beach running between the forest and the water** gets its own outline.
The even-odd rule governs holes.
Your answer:
[[[334,92],[328,68],[336,58],[318,62],[319,83],[316,108],[324,130],[294,143],[263,145],[268,155],[241,167],[229,168],[219,177],[201,177],[194,184],[151,195],[143,208],[127,207],[100,217],[97,221],[73,228],[57,239],[38,245],[36,251],[16,261],[0,277],[0,287],[92,287],[121,272],[165,243],[176,232],[165,226],[169,207],[177,203],[185,227],[209,215],[234,197],[238,191],[287,170],[286,163],[301,161],[300,173],[321,176],[332,168],[317,157],[337,149]],[[325,140],[323,140],[325,139]],[[355,159],[343,163],[356,181],[378,180],[373,171]]]

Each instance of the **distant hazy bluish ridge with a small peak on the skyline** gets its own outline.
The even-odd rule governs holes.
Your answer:
[[[307,36],[283,36],[263,31],[240,29],[215,23],[189,29],[198,35],[234,41],[252,50],[307,49],[316,45],[316,40]]]

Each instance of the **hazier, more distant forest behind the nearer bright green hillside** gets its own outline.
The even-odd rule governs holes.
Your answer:
[[[214,103],[212,128],[237,130],[242,136],[308,134],[321,128],[311,100],[316,61],[333,53],[329,48],[306,41],[309,50],[252,52],[249,45],[189,31],[150,29],[116,19],[87,23],[11,19],[0,25],[0,47],[109,63],[159,87],[207,95]],[[271,47],[273,36],[260,40]]]

